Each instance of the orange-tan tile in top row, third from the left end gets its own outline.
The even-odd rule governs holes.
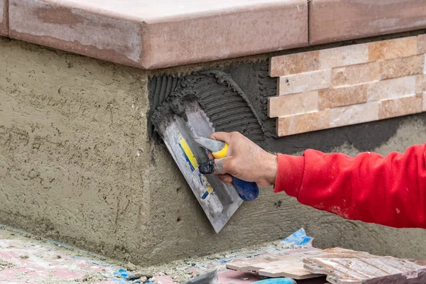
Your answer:
[[[370,61],[406,58],[412,55],[417,55],[417,36],[374,41],[368,45]]]

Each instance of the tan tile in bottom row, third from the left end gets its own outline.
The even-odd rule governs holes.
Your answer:
[[[379,102],[378,119],[389,119],[396,116],[417,114],[422,112],[423,95],[417,94],[398,99],[387,99]]]

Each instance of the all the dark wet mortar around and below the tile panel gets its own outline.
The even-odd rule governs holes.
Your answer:
[[[386,143],[400,126],[401,119],[388,119],[278,137],[275,119],[267,114],[268,97],[276,95],[277,87],[277,79],[268,76],[268,68],[268,60],[263,60],[235,63],[222,70],[195,72],[182,77],[168,75],[151,78],[148,82],[148,128],[151,138],[159,141],[153,131],[155,121],[152,118],[161,119],[173,109],[170,102],[176,102],[175,98],[197,100],[217,131],[239,131],[267,151],[275,153],[296,154],[307,148],[330,152],[342,143],[349,143],[359,151],[371,151]],[[362,135],[359,135],[361,131]]]

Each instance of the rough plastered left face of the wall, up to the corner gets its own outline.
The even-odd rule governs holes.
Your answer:
[[[0,222],[119,258],[149,244],[146,74],[0,50]]]

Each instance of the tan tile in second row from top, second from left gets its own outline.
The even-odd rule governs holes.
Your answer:
[[[370,62],[332,69],[332,86],[351,86],[378,81],[380,78],[379,62]]]

